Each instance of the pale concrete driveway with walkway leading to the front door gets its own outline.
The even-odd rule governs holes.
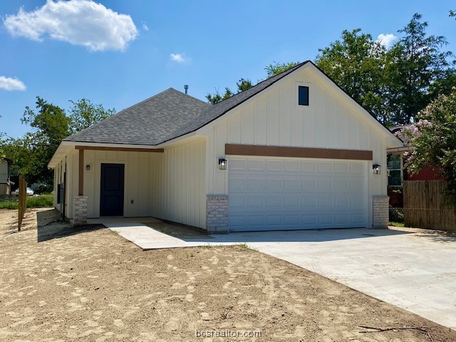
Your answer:
[[[134,219],[106,219],[103,224],[142,249],[247,243],[456,330],[454,236],[421,229],[331,229],[177,239]]]

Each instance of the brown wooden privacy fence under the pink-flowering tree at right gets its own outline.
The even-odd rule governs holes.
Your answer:
[[[444,180],[403,182],[405,227],[456,231],[456,207],[445,204]]]

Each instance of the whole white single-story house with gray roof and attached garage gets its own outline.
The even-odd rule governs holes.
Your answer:
[[[48,166],[55,205],[74,224],[386,227],[386,150],[400,146],[307,61],[215,105],[165,90],[64,139]]]

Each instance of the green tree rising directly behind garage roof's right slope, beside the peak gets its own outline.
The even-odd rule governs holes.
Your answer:
[[[316,65],[371,115],[390,123],[383,95],[385,48],[360,28],[344,30],[341,40],[321,48]]]

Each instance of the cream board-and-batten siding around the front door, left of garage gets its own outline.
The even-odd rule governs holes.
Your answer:
[[[199,137],[165,152],[84,151],[84,195],[88,217],[100,217],[101,164],[125,165],[124,216],[157,217],[205,227],[204,191],[206,140]],[[78,195],[78,150],[66,156],[67,200]],[[90,170],[86,170],[90,165]],[[132,203],[133,202],[133,203]],[[73,208],[67,206],[68,218]]]

